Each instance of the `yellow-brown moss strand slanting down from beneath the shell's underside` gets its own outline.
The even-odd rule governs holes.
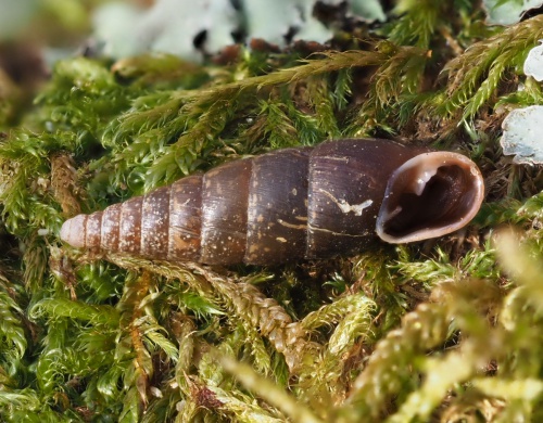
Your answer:
[[[299,374],[321,349],[320,345],[305,338],[306,331],[299,322],[293,322],[275,299],[266,298],[251,284],[237,283],[231,278],[190,261],[173,265],[115,254],[109,255],[108,259],[126,269],[146,269],[166,278],[176,278],[205,298],[222,303],[235,312],[236,318],[257,328],[260,334],[269,339],[285,356],[291,374]]]

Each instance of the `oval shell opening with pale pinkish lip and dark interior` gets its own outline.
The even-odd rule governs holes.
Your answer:
[[[394,171],[377,219],[389,243],[441,236],[467,225],[484,195],[481,172],[469,158],[450,152],[420,154]]]

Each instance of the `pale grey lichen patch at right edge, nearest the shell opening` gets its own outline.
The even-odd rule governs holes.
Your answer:
[[[514,163],[543,163],[543,105],[517,108],[502,124],[500,143],[505,155],[515,155]]]

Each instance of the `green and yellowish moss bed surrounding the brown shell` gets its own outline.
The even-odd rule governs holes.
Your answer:
[[[17,119],[0,97],[0,421],[543,419],[543,181],[498,143],[508,110],[543,102],[522,74],[543,15],[503,28],[463,0],[396,12],[313,54],[65,60]],[[184,175],[364,136],[469,155],[487,182],[473,223],[270,268],[59,240],[66,218]]]

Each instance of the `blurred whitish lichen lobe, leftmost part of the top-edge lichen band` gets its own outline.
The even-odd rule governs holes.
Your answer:
[[[203,48],[217,52],[235,42],[239,20],[229,0],[157,0],[148,10],[116,2],[98,10],[94,35],[114,57],[160,51],[200,61],[197,38],[205,35]]]

